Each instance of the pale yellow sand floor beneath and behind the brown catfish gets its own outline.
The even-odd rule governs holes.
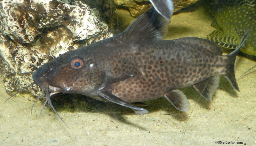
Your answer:
[[[123,10],[118,12],[127,15]],[[127,15],[125,23],[133,20]],[[202,8],[180,13],[172,17],[166,39],[205,37],[213,31],[211,21]],[[254,65],[256,62],[250,59],[237,57],[236,77]],[[164,98],[147,102],[144,108],[149,113],[142,116],[130,109],[111,108],[112,113],[107,106],[106,112],[59,111],[69,129],[48,107],[39,119],[42,102],[35,105],[31,115],[34,101],[28,100],[28,94],[15,96],[4,104],[9,95],[1,81],[0,145],[256,145],[255,72],[237,83],[240,92],[221,77],[212,103],[201,97],[196,104],[199,94],[191,87],[182,89],[191,104],[187,112],[177,111]],[[214,144],[217,141],[243,144]]]

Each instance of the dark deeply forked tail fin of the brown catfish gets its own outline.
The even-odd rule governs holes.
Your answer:
[[[236,48],[236,50],[234,50],[233,52],[226,55],[228,57],[228,67],[227,67],[226,74],[223,76],[228,79],[228,81],[230,82],[232,87],[234,89],[236,89],[237,91],[240,91],[240,90],[239,90],[238,84],[236,83],[235,69],[234,69],[236,55],[239,52],[239,50],[242,48],[242,46],[243,46],[245,40],[247,39],[248,35],[250,34],[251,30],[252,30],[252,27],[246,31],[246,33],[242,37],[241,42],[240,42],[239,46]]]

